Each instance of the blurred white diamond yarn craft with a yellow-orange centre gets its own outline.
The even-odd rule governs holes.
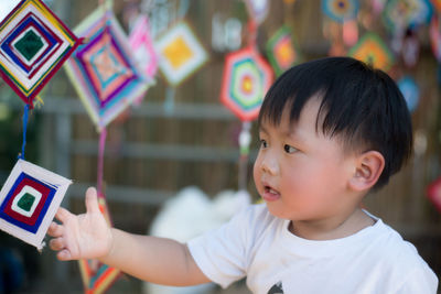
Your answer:
[[[190,77],[208,58],[185,22],[170,29],[155,42],[155,48],[160,55],[159,67],[172,86],[178,86]]]

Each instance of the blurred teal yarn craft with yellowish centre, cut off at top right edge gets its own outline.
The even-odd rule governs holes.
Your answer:
[[[433,8],[429,0],[389,0],[383,20],[390,32],[429,23]]]

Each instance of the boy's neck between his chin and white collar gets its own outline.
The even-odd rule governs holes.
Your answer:
[[[303,239],[332,240],[348,237],[375,224],[375,220],[361,208],[348,216],[338,216],[321,220],[297,220],[289,230]]]

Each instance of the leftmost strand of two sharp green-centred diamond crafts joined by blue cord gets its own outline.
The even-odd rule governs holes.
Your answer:
[[[29,111],[82,41],[40,0],[23,0],[0,23],[0,75],[25,102],[19,160],[0,192],[0,229],[42,250],[72,182],[24,160]]]

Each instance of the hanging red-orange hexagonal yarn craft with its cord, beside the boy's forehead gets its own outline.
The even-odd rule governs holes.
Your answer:
[[[245,0],[250,19],[247,23],[247,46],[225,57],[220,101],[241,120],[238,188],[247,190],[251,121],[259,113],[263,97],[272,84],[270,65],[258,52],[258,26],[269,10],[269,1]]]

